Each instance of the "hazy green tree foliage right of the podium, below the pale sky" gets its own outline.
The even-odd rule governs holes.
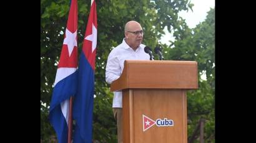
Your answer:
[[[192,136],[199,119],[203,118],[206,119],[205,142],[215,142],[215,9],[210,9],[205,21],[194,29],[181,21],[174,37],[172,44],[164,45],[165,58],[198,63],[199,89],[187,93],[188,135]],[[203,73],[207,80],[201,79]]]

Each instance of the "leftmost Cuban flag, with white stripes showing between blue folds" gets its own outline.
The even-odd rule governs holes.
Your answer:
[[[59,143],[67,142],[69,99],[77,90],[77,0],[71,1],[61,57],[57,67],[49,120]]]

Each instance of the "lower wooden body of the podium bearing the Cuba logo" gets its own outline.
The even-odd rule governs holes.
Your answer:
[[[185,90],[123,90],[124,142],[187,142]]]

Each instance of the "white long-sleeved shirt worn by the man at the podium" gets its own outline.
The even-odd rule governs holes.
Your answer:
[[[114,48],[107,58],[106,81],[111,84],[121,76],[124,60],[149,60],[149,54],[144,52],[144,44],[140,44],[134,51],[125,40]],[[122,108],[122,91],[114,91],[112,108]]]

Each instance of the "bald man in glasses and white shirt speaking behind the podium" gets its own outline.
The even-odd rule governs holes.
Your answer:
[[[106,81],[111,84],[121,76],[124,69],[124,60],[149,60],[142,44],[143,30],[139,22],[129,21],[124,26],[122,44],[114,48],[107,58]],[[118,142],[122,141],[122,91],[114,91],[113,113],[117,121]]]

